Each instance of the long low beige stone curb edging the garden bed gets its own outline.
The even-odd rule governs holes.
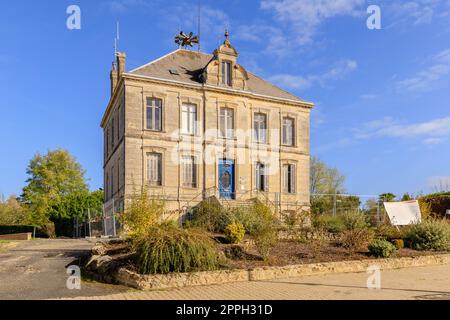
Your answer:
[[[232,282],[286,279],[333,273],[361,273],[366,272],[368,267],[373,265],[379,266],[381,270],[391,270],[442,264],[450,264],[450,254],[419,256],[413,258],[327,262],[286,267],[263,267],[252,270],[174,273],[168,275],[140,275],[125,268],[121,268],[115,274],[114,280],[118,284],[147,291]]]

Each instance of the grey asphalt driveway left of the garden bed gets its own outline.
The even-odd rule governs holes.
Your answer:
[[[83,282],[68,290],[66,267],[78,264],[93,242],[87,240],[34,240],[0,251],[0,299],[55,299],[99,296],[128,289]]]

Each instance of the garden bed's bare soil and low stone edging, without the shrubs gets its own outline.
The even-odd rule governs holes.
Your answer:
[[[226,247],[221,246],[221,249]],[[248,259],[226,259],[228,263],[222,270],[141,275],[136,271],[126,243],[116,242],[96,246],[85,272],[92,278],[107,283],[122,284],[139,290],[162,290],[329,273],[365,272],[369,266],[374,264],[382,270],[388,270],[450,263],[450,255],[440,252],[417,252],[402,249],[393,258],[374,259],[365,253],[349,255],[342,252],[340,248],[330,248],[332,247],[324,248],[319,255],[308,258],[307,255],[313,253],[308,253],[304,244],[282,241],[275,248],[278,250],[277,254],[268,263],[264,263],[256,256],[246,252],[249,255]],[[289,257],[294,258],[277,259],[277,256],[282,256],[282,250],[287,249],[290,249]]]

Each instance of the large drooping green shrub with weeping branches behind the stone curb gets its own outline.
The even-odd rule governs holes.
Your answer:
[[[152,227],[133,239],[141,274],[208,271],[219,268],[216,244],[202,230],[173,224]]]

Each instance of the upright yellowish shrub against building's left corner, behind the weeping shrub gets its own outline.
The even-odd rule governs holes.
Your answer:
[[[134,192],[127,210],[120,215],[120,222],[131,235],[146,234],[148,230],[161,223],[164,215],[163,200],[152,198],[148,188]]]

